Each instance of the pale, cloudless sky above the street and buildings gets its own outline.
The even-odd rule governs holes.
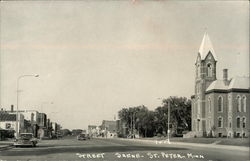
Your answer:
[[[249,76],[247,1],[1,1],[0,106],[38,110],[63,128],[153,110],[194,93],[205,31],[217,78]],[[117,118],[117,117],[116,117]]]

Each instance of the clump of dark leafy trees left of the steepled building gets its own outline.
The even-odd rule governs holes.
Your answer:
[[[162,101],[163,106],[154,111],[144,105],[123,108],[118,112],[119,118],[129,128],[131,134],[137,130],[144,137],[157,134],[165,135],[168,127],[168,103],[170,102],[170,127],[178,134],[183,130],[191,130],[191,101],[185,97],[169,97]]]

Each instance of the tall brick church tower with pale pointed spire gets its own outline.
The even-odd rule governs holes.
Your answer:
[[[206,131],[205,92],[216,80],[216,63],[217,57],[212,43],[205,33],[195,62],[195,94],[192,97],[192,131],[199,135]]]

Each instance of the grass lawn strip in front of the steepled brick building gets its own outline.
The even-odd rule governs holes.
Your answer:
[[[145,138],[149,140],[166,140],[166,137],[153,137]],[[236,146],[248,146],[250,144],[249,138],[182,138],[182,137],[171,137],[172,142],[186,142],[186,143],[202,143],[202,144],[220,144],[220,145],[236,145]]]

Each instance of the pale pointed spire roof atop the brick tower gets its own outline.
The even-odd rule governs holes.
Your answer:
[[[209,51],[213,55],[215,61],[217,61],[217,57],[215,55],[213,45],[212,45],[212,43],[210,41],[210,38],[209,38],[207,32],[205,32],[205,34],[203,36],[203,39],[202,39],[202,42],[201,42],[200,49],[199,49],[201,60],[205,60],[205,58],[207,57]]]

